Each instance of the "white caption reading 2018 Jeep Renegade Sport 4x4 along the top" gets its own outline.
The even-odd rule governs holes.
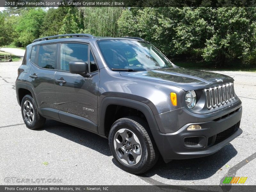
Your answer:
[[[5,2],[5,6],[116,6],[116,5],[124,5],[124,2]]]

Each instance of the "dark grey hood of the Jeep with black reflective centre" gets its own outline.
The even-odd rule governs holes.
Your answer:
[[[162,68],[151,71],[120,72],[120,75],[169,84],[180,87],[184,91],[210,88],[234,81],[232,77],[219,73],[186,68]]]

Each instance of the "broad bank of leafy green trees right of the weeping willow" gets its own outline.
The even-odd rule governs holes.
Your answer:
[[[139,36],[167,56],[196,56],[223,65],[240,59],[256,61],[255,7],[158,7],[122,12],[118,30],[123,36]]]

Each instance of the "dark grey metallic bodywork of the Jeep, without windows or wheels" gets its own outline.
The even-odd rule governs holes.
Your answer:
[[[170,159],[210,155],[241,134],[241,129],[238,129],[228,139],[209,148],[185,148],[182,143],[184,135],[199,134],[206,138],[213,132],[221,132],[231,127],[234,122],[240,121],[242,114],[241,108],[225,121],[212,121],[240,108],[239,98],[235,96],[234,101],[212,109],[207,109],[204,103],[200,103],[200,108],[188,109],[184,102],[185,91],[195,90],[198,102],[204,102],[204,88],[233,82],[233,78],[177,68],[175,65],[174,68],[142,72],[112,71],[107,67],[96,43],[101,39],[109,38],[61,38],[28,45],[27,64],[19,68],[20,74],[16,80],[19,104],[19,89],[28,89],[36,100],[39,113],[43,116],[50,116],[52,119],[87,129],[103,137],[106,133],[104,122],[108,105],[118,104],[138,109],[148,120],[156,145],[166,162]],[[89,44],[99,71],[89,77],[82,77],[56,69],[39,68],[29,61],[32,46],[68,42]],[[37,78],[31,78],[29,75],[36,75]],[[60,85],[55,82],[56,79],[63,79],[66,83]],[[223,83],[218,83],[216,79],[222,79]],[[177,106],[171,103],[171,92],[177,93]],[[94,112],[83,110],[83,107]],[[187,126],[191,123],[210,128],[208,132],[205,129],[188,132]]]

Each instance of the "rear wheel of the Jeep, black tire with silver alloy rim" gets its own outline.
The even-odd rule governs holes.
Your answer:
[[[21,101],[21,114],[24,123],[29,129],[40,129],[44,126],[46,119],[38,113],[35,101],[31,95],[23,97]]]

